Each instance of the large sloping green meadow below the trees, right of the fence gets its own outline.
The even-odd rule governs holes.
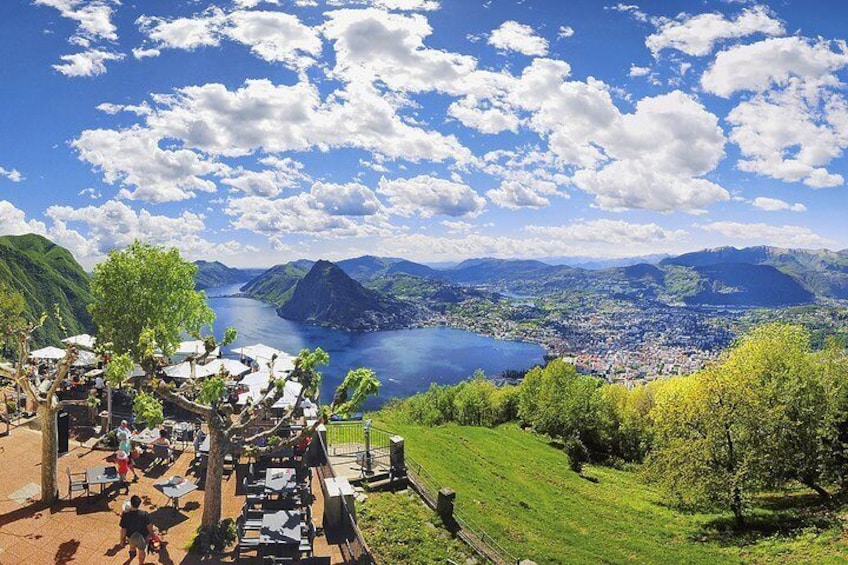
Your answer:
[[[738,534],[729,516],[670,508],[636,473],[587,466],[578,476],[561,451],[513,425],[378,425],[456,490],[466,519],[540,565],[848,562],[844,508],[821,510],[806,495],[764,497]]]

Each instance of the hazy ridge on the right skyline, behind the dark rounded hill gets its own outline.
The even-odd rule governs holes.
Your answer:
[[[670,257],[660,262],[661,265],[687,267],[722,263],[768,265],[790,275],[818,296],[848,299],[848,250],[719,247]]]

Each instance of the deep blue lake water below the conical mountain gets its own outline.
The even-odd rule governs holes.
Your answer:
[[[383,332],[348,332],[284,320],[274,307],[250,298],[227,297],[240,285],[206,290],[215,310],[215,333],[220,338],[228,326],[238,330],[230,348],[264,343],[296,355],[303,348],[321,347],[330,354],[322,370],[321,397],[328,401],[349,369],[369,367],[382,386],[379,400],[406,397],[430,383],[451,384],[477,369],[487,375],[524,370],[543,360],[538,345],[503,341],[451,328],[420,328]]]

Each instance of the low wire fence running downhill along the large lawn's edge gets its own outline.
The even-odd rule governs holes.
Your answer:
[[[435,510],[442,485],[423,465],[410,457],[406,458],[406,469],[413,488]],[[458,502],[461,502],[461,499]],[[469,520],[467,515],[462,512],[461,504],[457,504],[457,502],[454,502],[453,517],[460,526],[457,535],[479,555],[498,565],[517,565],[520,563],[520,560],[499,544],[495,538]]]

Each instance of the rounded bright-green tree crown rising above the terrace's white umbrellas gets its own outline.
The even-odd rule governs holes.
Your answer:
[[[215,316],[205,294],[194,290],[196,271],[175,248],[135,241],[110,251],[91,284],[98,340],[141,361],[154,347],[172,353],[183,332],[198,335]]]

